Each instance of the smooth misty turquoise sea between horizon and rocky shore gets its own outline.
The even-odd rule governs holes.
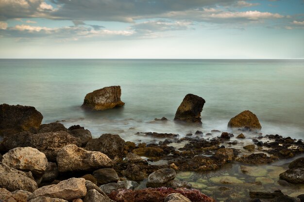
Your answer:
[[[86,93],[120,85],[125,106],[100,112],[80,108]],[[197,129],[226,130],[243,110],[259,118],[263,134],[304,138],[304,60],[0,60],[0,103],[30,105],[67,127],[93,136],[136,132],[184,136]],[[206,100],[202,128],[172,120],[187,93]],[[167,117],[167,123],[154,118]]]

